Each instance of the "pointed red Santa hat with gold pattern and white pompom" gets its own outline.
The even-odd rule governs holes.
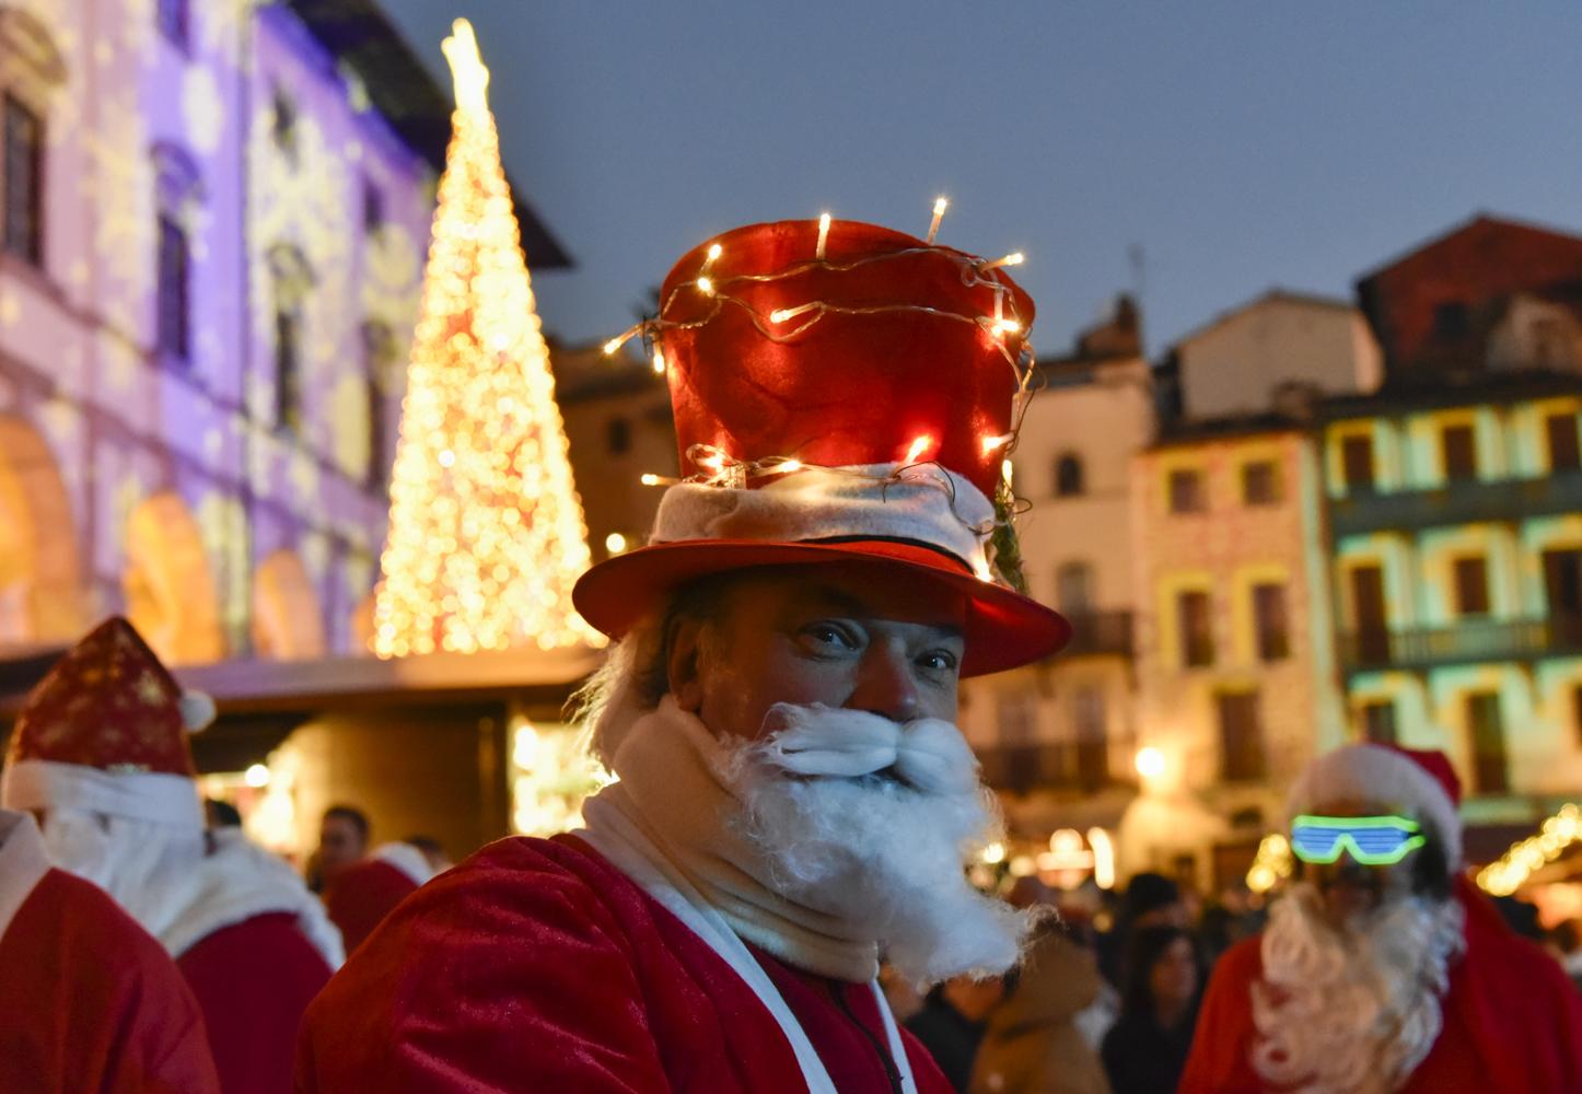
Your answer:
[[[214,713],[214,700],[184,691],[127,620],[109,618],[28,694],[0,805],[202,828],[187,735]]]

